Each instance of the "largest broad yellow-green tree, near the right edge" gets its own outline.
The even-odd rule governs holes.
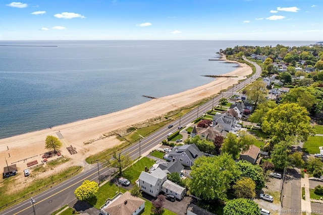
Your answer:
[[[305,108],[296,103],[286,103],[267,112],[261,129],[280,140],[293,136],[306,142],[308,136],[314,134],[314,129],[309,123],[310,118]]]

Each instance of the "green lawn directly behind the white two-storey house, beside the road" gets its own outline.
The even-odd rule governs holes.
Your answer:
[[[139,178],[141,171],[145,171],[145,167],[149,168],[154,164],[153,159],[143,157],[138,162],[123,171],[122,176],[128,179],[132,184]]]

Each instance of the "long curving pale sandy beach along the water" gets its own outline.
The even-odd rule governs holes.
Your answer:
[[[84,166],[86,165],[84,159],[87,156],[120,144],[120,141],[112,136],[88,145],[85,145],[84,142],[90,139],[97,139],[103,133],[162,116],[181,106],[186,106],[204,97],[217,94],[221,88],[226,89],[238,83],[238,80],[244,79],[251,72],[252,69],[249,66],[239,64],[239,67],[233,72],[223,74],[226,76],[238,76],[235,78],[216,78],[203,86],[178,94],[152,99],[115,113],[0,139],[0,157],[2,157],[0,159],[0,166],[2,168],[6,167],[6,158],[9,165],[12,163],[17,164],[18,172],[21,173],[24,169],[27,169],[27,162],[37,159],[38,163],[40,163],[42,160],[41,155],[47,151],[44,149],[46,136],[53,135],[59,137],[57,132],[60,132],[64,137],[61,140],[63,142],[62,154],[71,157],[71,162],[74,165]],[[76,148],[76,154],[71,155],[68,152],[66,147],[70,145]],[[22,161],[18,162],[18,160]],[[69,162],[69,165],[71,165],[71,162]]]

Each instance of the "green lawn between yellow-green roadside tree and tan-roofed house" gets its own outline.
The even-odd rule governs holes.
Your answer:
[[[96,197],[89,199],[87,202],[95,208],[99,209],[100,206],[105,203],[105,200],[107,198],[113,198],[117,193],[119,193],[119,189],[122,193],[127,191],[122,187],[118,187],[114,183],[107,182],[99,187],[99,191]]]

